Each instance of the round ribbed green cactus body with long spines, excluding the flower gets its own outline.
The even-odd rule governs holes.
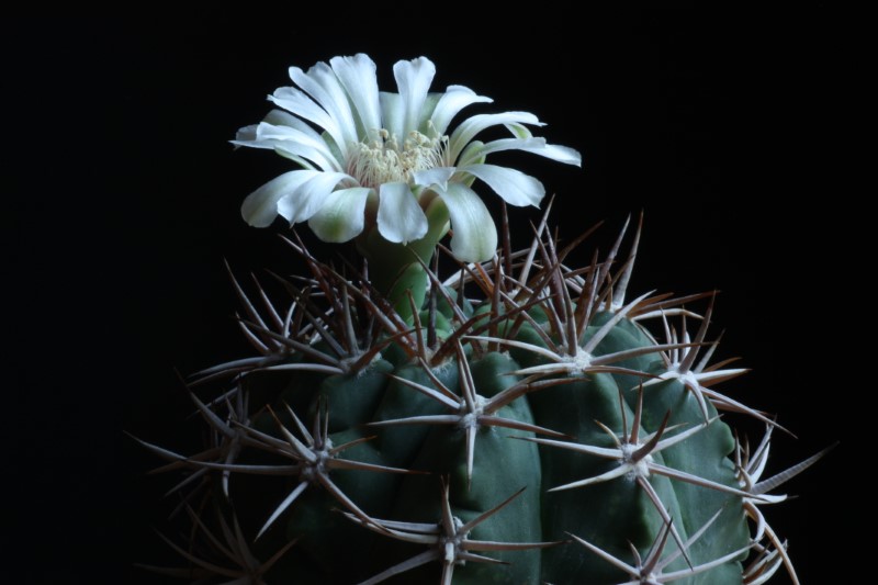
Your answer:
[[[200,556],[172,544],[199,575],[560,585],[757,584],[781,563],[791,572],[773,531],[751,540],[745,503],[761,500],[717,408],[765,417],[705,387],[742,373],[700,363],[716,346],[710,307],[689,307],[706,295],[627,303],[639,238],[627,262],[617,244],[571,271],[544,225],[526,250],[532,260],[499,254],[461,272],[481,302],[425,267],[434,284],[414,328],[368,282],[299,244],[312,275],[284,282],[286,306],[260,286],[260,314],[233,277],[240,326],[261,356],[193,378],[213,430],[205,451],[144,443],[203,480],[177,486],[200,502],[194,540],[224,533],[252,551]],[[693,337],[687,318],[699,325]],[[618,470],[612,452],[629,439],[637,471],[553,490]],[[194,511],[205,507],[216,514]],[[444,539],[462,525],[464,536]],[[744,567],[751,547],[758,554]]]

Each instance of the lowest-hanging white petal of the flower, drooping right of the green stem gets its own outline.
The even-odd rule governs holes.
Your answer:
[[[448,183],[437,189],[451,216],[451,251],[458,260],[483,262],[497,249],[497,228],[485,203],[469,187]]]

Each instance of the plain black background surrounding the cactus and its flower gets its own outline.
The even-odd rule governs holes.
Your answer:
[[[533,112],[548,124],[538,134],[579,149],[582,170],[509,158],[558,194],[562,236],[607,220],[593,238],[606,249],[644,211],[633,291],[721,290],[719,357],[753,369],[724,389],[799,436],[777,437],[772,470],[841,441],[786,487],[799,498],[766,510],[800,575],[826,582],[856,554],[842,522],[865,513],[868,487],[848,468],[856,425],[843,416],[871,389],[845,373],[843,327],[868,312],[848,268],[857,248],[835,233],[862,218],[843,184],[845,20],[821,3],[506,22],[432,8],[407,22],[394,20],[404,7],[367,19],[327,4],[319,18],[3,23],[0,538],[20,582],[156,582],[131,565],[164,558],[150,527],[168,483],[144,476],[155,460],[123,430],[183,442],[176,370],[246,353],[224,258],[239,273],[296,269],[278,229],[248,228],[238,211],[284,161],[227,140],[289,85],[288,66],[357,52],[384,89],[395,60],[429,56],[434,89],[461,83],[494,98],[489,111]],[[517,211],[517,230],[533,217]]]

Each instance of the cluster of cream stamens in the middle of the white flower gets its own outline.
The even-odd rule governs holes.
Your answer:
[[[396,136],[381,130],[381,139],[357,143],[348,159],[348,175],[362,187],[378,189],[382,183],[408,182],[412,173],[442,165],[448,136],[428,137],[410,132],[402,147]]]

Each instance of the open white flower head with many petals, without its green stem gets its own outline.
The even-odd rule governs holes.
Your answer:
[[[518,206],[538,205],[545,190],[518,170],[486,165],[485,157],[525,150],[579,165],[579,154],[533,137],[525,124],[542,124],[527,112],[477,114],[449,134],[463,108],[492,100],[462,86],[430,93],[436,67],[425,57],[401,60],[393,72],[398,93],[379,91],[375,64],[362,54],[318,63],[307,72],[291,67],[299,87],[269,95],[281,110],[238,131],[233,144],[271,148],[302,168],[252,192],[244,218],[258,227],[278,214],[291,224],[307,221],[325,241],[347,241],[376,222],[385,239],[406,244],[427,234],[425,209],[438,198],[448,210],[454,255],[464,261],[491,258],[497,230],[470,188],[474,180]],[[498,125],[511,137],[474,139]]]

